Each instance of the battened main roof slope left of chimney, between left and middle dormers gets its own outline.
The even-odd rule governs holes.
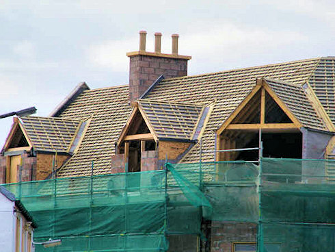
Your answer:
[[[60,114],[62,118],[88,118],[91,122],[78,151],[60,168],[59,177],[109,173],[111,155],[131,112],[128,85],[85,90]]]

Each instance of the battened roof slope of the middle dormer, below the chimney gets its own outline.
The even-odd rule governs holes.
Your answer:
[[[191,140],[203,105],[139,100],[139,107],[148,118],[158,138]]]

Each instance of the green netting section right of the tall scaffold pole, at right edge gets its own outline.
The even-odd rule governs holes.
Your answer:
[[[334,167],[334,160],[262,159],[258,251],[335,251]]]

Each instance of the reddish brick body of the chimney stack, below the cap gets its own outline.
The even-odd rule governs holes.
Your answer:
[[[165,78],[187,75],[187,60],[148,55],[131,56],[129,100],[138,99],[160,75]]]

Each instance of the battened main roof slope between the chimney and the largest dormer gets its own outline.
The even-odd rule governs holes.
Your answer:
[[[317,68],[320,58],[266,66],[241,68],[220,73],[163,79],[145,98],[159,101],[207,103],[217,100],[202,137],[202,149],[215,146],[215,131],[256,85],[257,77],[269,77],[294,85],[302,85]],[[199,160],[199,144],[180,162]],[[202,160],[213,161],[214,153],[204,153]]]

